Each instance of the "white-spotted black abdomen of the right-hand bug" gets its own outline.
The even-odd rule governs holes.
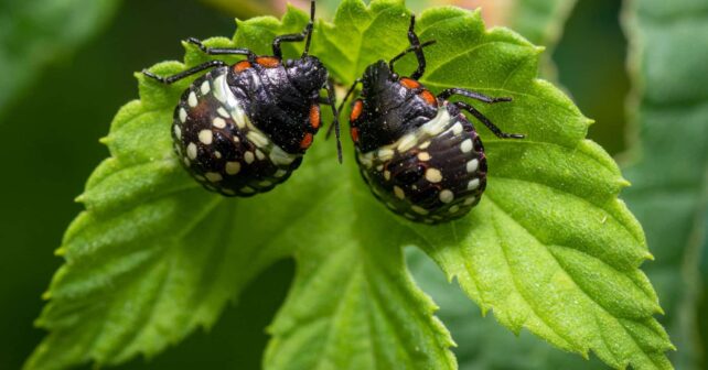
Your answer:
[[[484,149],[472,123],[455,108],[390,145],[361,153],[362,176],[393,211],[437,224],[466,215],[486,185]]]

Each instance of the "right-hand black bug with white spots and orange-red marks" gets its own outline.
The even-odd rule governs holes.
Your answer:
[[[372,193],[394,213],[426,224],[438,224],[466,215],[486,186],[484,148],[474,126],[462,113],[469,111],[502,139],[523,139],[504,133],[479,110],[464,101],[448,101],[453,95],[493,104],[512,98],[492,98],[462,88],[449,88],[437,97],[418,79],[426,69],[422,48],[410,18],[410,47],[388,64],[369,65],[358,83],[361,98],[352,105],[351,135],[356,161]],[[410,77],[399,77],[394,63],[408,53],[418,59]],[[340,106],[340,110],[342,106]]]

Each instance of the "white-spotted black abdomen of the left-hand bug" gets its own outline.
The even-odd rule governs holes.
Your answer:
[[[204,187],[229,196],[251,196],[286,181],[302,162],[256,128],[244,102],[228,89],[227,68],[197,78],[174,111],[175,152]]]

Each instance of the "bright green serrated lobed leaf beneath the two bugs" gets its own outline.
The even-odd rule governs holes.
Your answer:
[[[333,24],[315,26],[312,54],[351,84],[367,64],[407,46],[408,19],[398,1],[367,8],[346,0]],[[275,34],[305,21],[291,9],[282,23],[239,22],[234,40],[206,44],[268,53]],[[590,121],[535,79],[539,50],[508,30],[487,32],[479,13],[454,8],[423,12],[418,32],[438,41],[427,48],[427,86],[512,96],[512,104],[480,108],[506,131],[527,134],[501,141],[481,128],[489,185],[470,216],[437,227],[403,220],[373,198],[351,156],[336,163],[324,138],[271,193],[208,194],[171,151],[172,110],[189,81],[164,87],[138,74],[141,99],[116,116],[104,141],[111,157],[79,197],[86,210],[66,232],[58,250],[66,263],[37,320],[50,335],[26,368],[158,353],[210,327],[255,275],[293,257],[296,281],[269,327],[266,368],[454,369],[452,340],[404,263],[400,248],[408,244],[515,333],[527,328],[583,356],[592,350],[616,368],[671,368],[664,351],[672,345],[652,317],[661,308],[639,270],[650,257],[644,236],[616,199],[626,182],[601,148],[583,140]],[[169,75],[206,59],[185,47],[184,65],[152,70]]]

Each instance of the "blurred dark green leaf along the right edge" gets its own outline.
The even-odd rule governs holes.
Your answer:
[[[705,368],[695,338],[708,199],[706,21],[708,4],[699,0],[671,7],[636,0],[625,9],[639,132],[635,163],[626,171],[634,186],[625,197],[656,255],[646,272],[666,307],[663,323],[680,349],[674,353],[680,369]]]

